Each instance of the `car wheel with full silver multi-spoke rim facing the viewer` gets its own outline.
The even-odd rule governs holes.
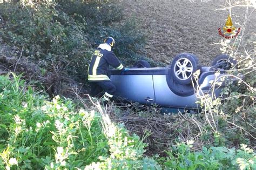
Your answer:
[[[181,53],[174,57],[171,64],[171,76],[181,85],[191,84],[193,73],[200,69],[197,56]]]

